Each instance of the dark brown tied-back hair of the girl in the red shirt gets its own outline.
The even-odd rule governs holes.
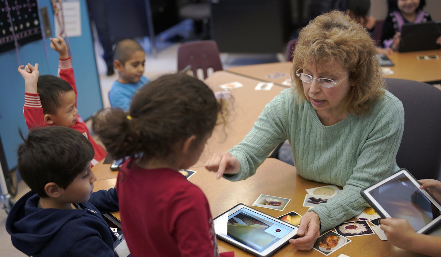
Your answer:
[[[138,91],[129,113],[117,108],[95,116],[93,132],[114,158],[133,159],[139,153],[164,158],[192,135],[200,142],[213,130],[220,111],[204,82],[186,74],[164,75]]]

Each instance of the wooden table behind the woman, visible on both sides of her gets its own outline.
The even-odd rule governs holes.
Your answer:
[[[418,55],[438,55],[437,60],[417,59]],[[385,78],[401,78],[414,81],[421,81],[430,84],[441,83],[441,49],[427,51],[395,52],[388,55],[389,59],[395,64],[389,67],[394,74],[385,75]],[[247,66],[237,66],[228,68],[230,73],[239,74],[245,77],[274,82],[282,85],[282,82],[290,77],[292,62],[274,62]],[[272,73],[284,73],[284,77],[271,79],[268,75]]]

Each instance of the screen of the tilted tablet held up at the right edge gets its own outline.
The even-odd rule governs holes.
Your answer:
[[[440,216],[439,209],[404,173],[373,188],[369,194],[390,217],[408,220],[415,231]]]

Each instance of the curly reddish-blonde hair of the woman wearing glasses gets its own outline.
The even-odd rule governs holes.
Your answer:
[[[373,102],[384,94],[384,81],[369,33],[341,11],[320,15],[304,27],[293,53],[292,79],[302,100],[303,84],[295,72],[307,66],[339,64],[348,71],[347,108],[355,115],[370,111]]]

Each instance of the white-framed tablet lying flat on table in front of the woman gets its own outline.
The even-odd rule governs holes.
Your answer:
[[[297,228],[242,207],[233,213],[230,211],[217,217],[215,231],[221,237],[232,239],[262,253],[280,242],[284,236],[296,232]]]

